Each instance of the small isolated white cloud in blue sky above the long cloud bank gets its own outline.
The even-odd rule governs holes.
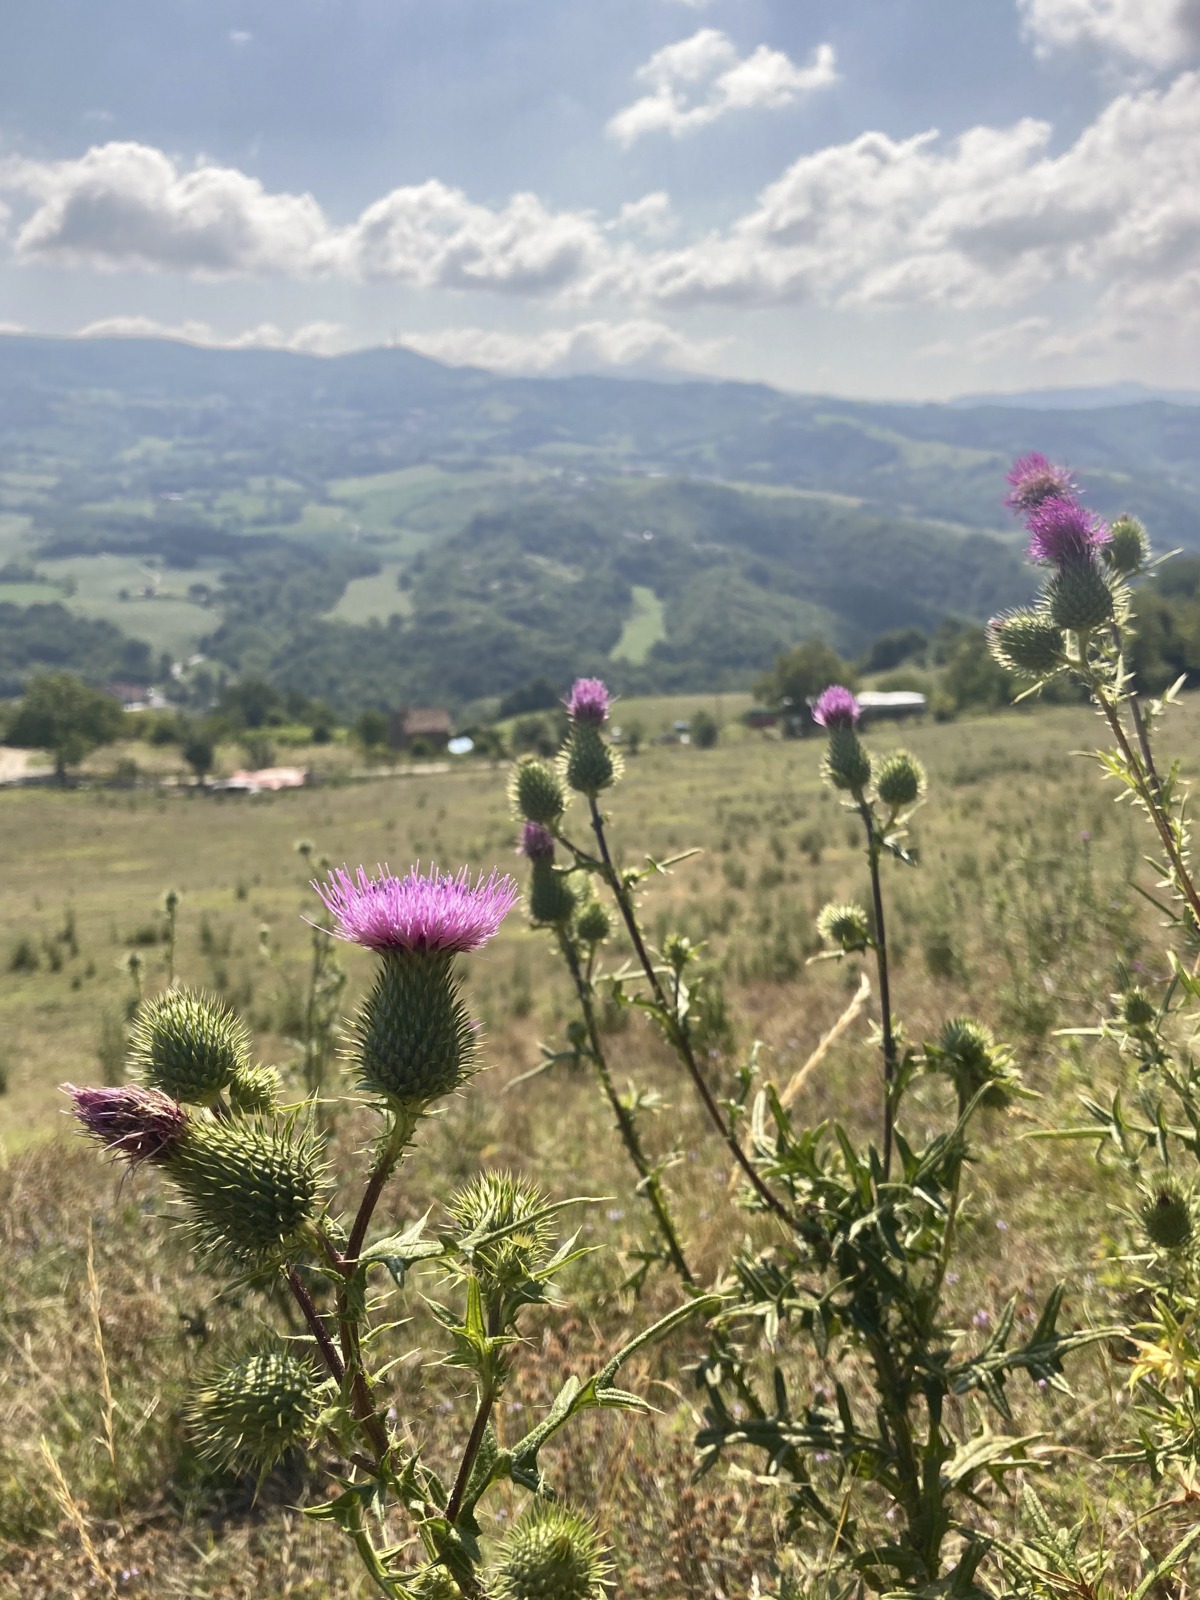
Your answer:
[[[656,51],[637,77],[646,93],[608,123],[626,147],[648,133],[694,133],[730,112],[792,106],[837,82],[837,58],[832,45],[818,45],[805,66],[766,45],[739,56],[726,34],[702,27]]]

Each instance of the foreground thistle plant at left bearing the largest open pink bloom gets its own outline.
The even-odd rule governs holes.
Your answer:
[[[528,1432],[498,1426],[530,1312],[566,1306],[558,1278],[586,1251],[578,1235],[560,1240],[557,1224],[582,1202],[552,1202],[525,1178],[482,1173],[443,1197],[440,1229],[422,1218],[381,1235],[373,1219],[422,1122],[480,1070],[458,963],[496,934],[517,886],[498,872],[472,880],[466,870],[397,878],[342,869],[314,888],[331,934],[376,957],[350,1034],[358,1090],[379,1120],[357,1182],[334,1182],[314,1102],[280,1107],[277,1077],[253,1062],[242,1024],[206,995],[168,989],[144,1002],[133,1082],[67,1086],[88,1134],[173,1187],[179,1221],[214,1274],[285,1285],[302,1315],[302,1338],[262,1336],[197,1374],[187,1405],[197,1446],[216,1467],[259,1478],[290,1451],[333,1450],[341,1493],[307,1515],[342,1530],[392,1600],[602,1600],[610,1565],[600,1538],[554,1501],[539,1453],[586,1410],[646,1410],[618,1387],[622,1362],[717,1302],[690,1299],[590,1379],[570,1378]],[[429,1285],[443,1363],[472,1378],[459,1437],[432,1403],[426,1419],[403,1422],[389,1405],[395,1362],[381,1352],[400,1326],[389,1309],[411,1274]],[[434,1461],[446,1459],[454,1467],[443,1477]],[[496,1539],[485,1499],[502,1483],[531,1504]]]

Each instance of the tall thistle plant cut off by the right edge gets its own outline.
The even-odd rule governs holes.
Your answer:
[[[1200,1064],[1194,1054],[1200,1002],[1200,891],[1190,858],[1187,787],[1178,762],[1157,754],[1163,715],[1182,680],[1144,701],[1130,666],[1136,632],[1136,584],[1158,562],[1134,517],[1104,523],[1078,499],[1077,485],[1043,456],[1018,461],[1010,506],[1026,518],[1029,557],[1043,570],[1034,606],[992,622],[992,650],[1029,682],[1026,693],[1058,675],[1082,685],[1112,744],[1096,752],[1118,797],[1146,816],[1157,843],[1157,885],[1146,893],[1162,915],[1157,976],[1117,971],[1117,987],[1096,1026],[1067,1032],[1115,1048],[1125,1072],[1109,1093],[1090,1083],[1082,1096],[1098,1150],[1125,1170],[1126,1250],[1122,1275],[1130,1304],[1144,1315],[1131,1330],[1139,1434],[1117,1459],[1149,1464],[1200,1453],[1200,1245],[1195,1229],[1195,1163],[1200,1160]],[[1077,1138],[1083,1130],[1050,1130]]]

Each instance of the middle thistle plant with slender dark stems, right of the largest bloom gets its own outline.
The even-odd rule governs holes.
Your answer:
[[[534,922],[552,931],[579,1000],[570,1050],[547,1051],[546,1064],[592,1061],[638,1192],[654,1208],[659,1253],[691,1286],[686,1245],[659,1205],[662,1166],[648,1168],[640,1142],[645,1101],[637,1091],[614,1096],[595,1026],[600,982],[635,1003],[694,1085],[758,1216],[718,1285],[726,1306],[696,1374],[706,1410],[701,1466],[757,1456],[762,1482],[782,1496],[784,1534],[814,1581],[842,1573],[851,1587],[866,1578],[930,1597],[997,1594],[978,1576],[992,1534],[974,1507],[989,1483],[1029,1466],[1029,1438],[1005,1430],[1013,1418],[1008,1379],[1024,1371],[1066,1387],[1064,1355],[1099,1334],[1059,1331],[1061,1286],[1024,1339],[1014,1336],[1014,1302],[982,1338],[958,1330],[946,1304],[970,1203],[973,1141],[990,1136],[994,1120],[1010,1110],[1019,1077],[1013,1053],[982,1024],[952,1018],[914,1048],[893,1011],[883,866],[915,866],[907,827],[925,795],[925,771],[906,752],[872,758],[848,690],[832,686],[818,699],[824,776],[862,826],[869,886],[869,907],[830,904],[819,930],[830,957],[874,958],[880,994],[878,1136],[861,1142],[840,1123],[797,1126],[774,1085],[763,1082],[757,1048],[728,1096],[709,1085],[691,1030],[696,952],[677,934],[654,949],[638,907],[643,883],[674,862],[616,866],[611,819],[600,808],[619,778],[603,739],[603,685],[576,683],[566,709],[571,728],[557,768],[520,763],[510,784]],[[587,808],[587,846],[570,821],[573,795]],[[614,925],[632,957],[602,973],[597,947]],[[923,1146],[902,1123],[910,1099],[915,1126],[941,1123]]]

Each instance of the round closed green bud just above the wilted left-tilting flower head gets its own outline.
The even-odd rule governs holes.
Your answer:
[[[250,1037],[219,1000],[168,989],[133,1019],[130,1066],[147,1088],[186,1106],[213,1106],[242,1067]]]

